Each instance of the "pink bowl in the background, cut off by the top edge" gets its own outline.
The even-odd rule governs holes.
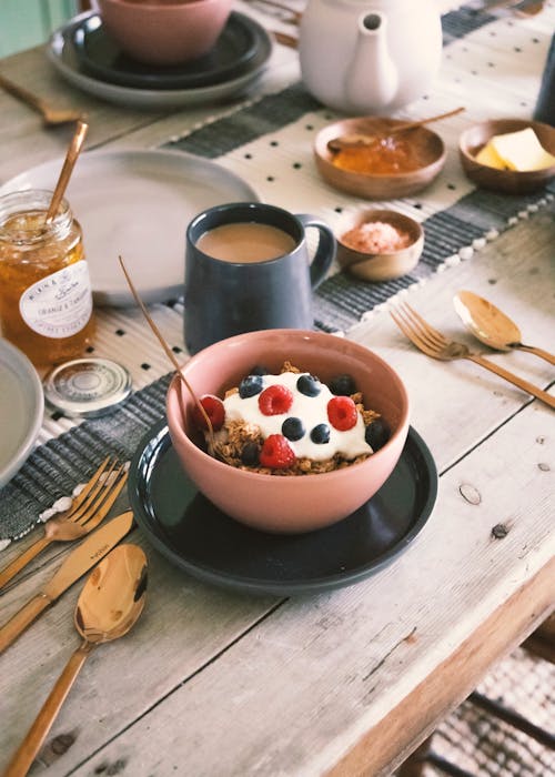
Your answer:
[[[97,0],[102,24],[121,49],[154,65],[180,64],[206,53],[233,0]]]

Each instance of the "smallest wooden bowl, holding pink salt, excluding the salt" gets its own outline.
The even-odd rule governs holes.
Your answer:
[[[371,253],[356,251],[342,242],[342,235],[361,224],[380,221],[391,224],[411,236],[411,243],[398,251]],[[337,262],[352,275],[363,281],[392,281],[414,270],[424,249],[424,230],[417,221],[391,210],[366,210],[343,220],[335,231],[337,239]]]

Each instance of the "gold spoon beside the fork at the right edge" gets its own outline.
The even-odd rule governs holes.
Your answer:
[[[521,330],[505,313],[482,296],[468,291],[460,291],[453,297],[455,311],[462,322],[482,343],[496,351],[519,349],[555,364],[555,355],[544,349],[524,345]]]

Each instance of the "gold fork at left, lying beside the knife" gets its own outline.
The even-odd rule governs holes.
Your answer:
[[[101,467],[99,467],[99,470]],[[98,482],[98,477],[100,475],[99,471],[97,471],[92,480]],[[89,504],[87,513],[81,513],[77,521],[73,518],[68,519],[65,516],[50,518],[50,521],[48,521],[44,525],[44,535],[28,547],[27,551],[23,551],[23,553],[17,556],[0,572],[0,589],[51,543],[56,541],[70,542],[72,539],[78,539],[92,531],[107,516],[110,507],[113,505],[118,495],[123,488],[127,478],[127,470],[124,466],[121,466],[118,471],[115,480],[111,482],[109,481],[105,488],[97,494],[94,502]]]

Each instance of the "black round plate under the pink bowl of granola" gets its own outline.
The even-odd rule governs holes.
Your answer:
[[[322,592],[369,577],[406,549],[436,496],[434,460],[412,427],[377,494],[306,534],[256,532],[218,509],[182,471],[165,421],[144,436],[129,473],[131,506],[155,548],[202,581],[256,594]]]

